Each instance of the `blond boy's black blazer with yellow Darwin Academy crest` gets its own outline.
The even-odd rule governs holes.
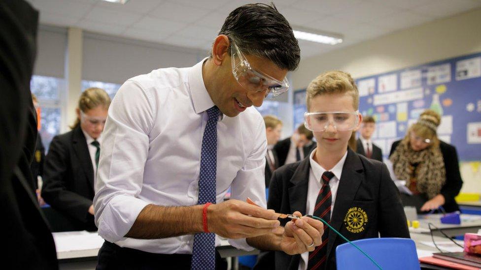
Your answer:
[[[268,209],[274,209],[278,213],[300,211],[305,214],[309,170],[309,157],[275,170],[269,188]],[[355,214],[361,214],[365,218],[360,227],[344,221],[346,217]],[[287,221],[281,221],[281,225],[285,225]],[[378,238],[379,234],[381,237],[410,237],[398,189],[385,164],[348,150],[331,226],[349,240]],[[336,247],[345,241],[332,230],[329,230],[328,240],[326,269],[334,270]],[[298,269],[300,255],[291,256],[282,251],[270,252],[274,253],[274,256],[262,256],[258,266],[276,270]]]

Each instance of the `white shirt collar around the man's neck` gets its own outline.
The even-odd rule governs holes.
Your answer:
[[[207,58],[204,58],[189,70],[189,88],[196,114],[200,114],[215,105],[207,92],[202,76],[202,65],[206,60]]]

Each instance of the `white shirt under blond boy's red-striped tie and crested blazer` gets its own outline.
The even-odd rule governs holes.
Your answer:
[[[308,199],[306,203],[306,213],[309,215],[314,214],[315,202],[317,195],[322,187],[322,174],[327,171],[322,168],[319,163],[313,159],[317,149],[313,150],[309,156],[310,170],[309,170],[309,186],[308,186]],[[331,188],[331,217],[334,211],[334,203],[336,202],[336,195],[338,193],[339,180],[343,172],[344,161],[347,157],[347,151],[339,162],[330,170],[334,174],[334,177],[329,180],[329,188]],[[301,254],[301,260],[299,261],[299,270],[306,270],[308,268],[309,252]]]

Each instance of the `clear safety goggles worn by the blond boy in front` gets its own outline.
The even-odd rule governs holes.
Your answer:
[[[304,114],[304,125],[310,131],[322,132],[327,130],[330,125],[336,131],[347,131],[354,129],[358,124],[359,111]]]

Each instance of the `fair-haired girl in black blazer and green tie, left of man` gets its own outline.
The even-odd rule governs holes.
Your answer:
[[[85,90],[78,101],[72,130],[53,138],[45,159],[42,197],[76,230],[97,230],[92,200],[109,105],[105,90]]]

